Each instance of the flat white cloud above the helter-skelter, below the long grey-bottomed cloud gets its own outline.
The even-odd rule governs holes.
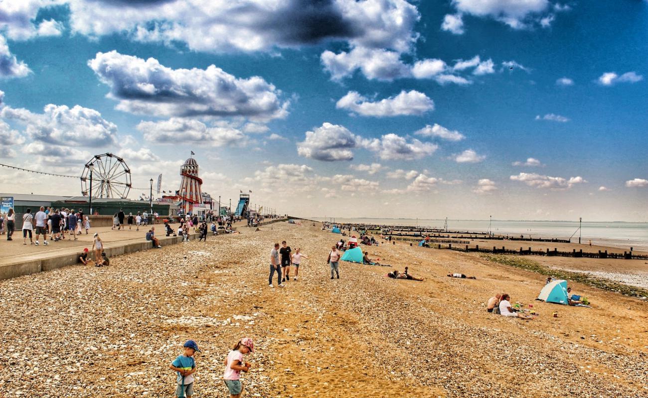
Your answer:
[[[170,118],[159,122],[140,122],[137,129],[147,142],[174,144],[194,142],[210,146],[235,146],[246,142],[246,136],[231,126],[207,127],[200,120]]]

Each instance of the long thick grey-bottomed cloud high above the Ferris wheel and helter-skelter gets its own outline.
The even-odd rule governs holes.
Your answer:
[[[98,52],[88,66],[110,86],[117,109],[157,116],[244,116],[282,118],[288,102],[274,85],[258,76],[240,79],[214,65],[207,69],[171,69],[155,58]]]

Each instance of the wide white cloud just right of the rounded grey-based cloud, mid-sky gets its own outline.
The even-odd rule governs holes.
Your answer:
[[[432,155],[439,146],[430,142],[413,139],[408,142],[396,134],[386,134],[380,138],[362,140],[362,146],[376,152],[382,160],[414,160]]]

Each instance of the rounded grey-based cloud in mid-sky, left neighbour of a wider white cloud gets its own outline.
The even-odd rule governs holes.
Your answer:
[[[352,160],[351,149],[358,146],[358,138],[344,126],[323,123],[306,132],[306,139],[297,143],[299,156],[316,160]]]

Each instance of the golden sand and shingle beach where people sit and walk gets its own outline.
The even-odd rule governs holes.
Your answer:
[[[393,268],[341,262],[330,280],[339,236],[319,223],[239,230],[0,282],[0,395],[172,396],[168,364],[192,338],[196,396],[228,397],[222,361],[252,337],[244,397],[648,397],[648,302],[579,283],[592,308],[536,302],[540,274],[409,243],[363,247]],[[309,259],[298,281],[270,289],[283,239]],[[587,259],[554,265],[574,260]],[[424,282],[386,278],[405,266]],[[502,292],[540,316],[487,313]]]

